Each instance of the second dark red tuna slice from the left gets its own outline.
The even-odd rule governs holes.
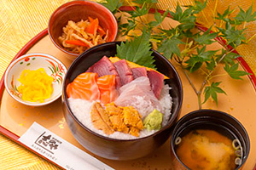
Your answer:
[[[129,65],[127,65],[125,59],[121,59],[113,63],[113,65],[115,66],[116,71],[119,73],[122,86],[127,84],[128,82],[133,81],[131,68],[129,67]]]

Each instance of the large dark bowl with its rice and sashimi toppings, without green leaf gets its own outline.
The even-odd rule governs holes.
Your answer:
[[[91,48],[73,61],[63,87],[74,137],[97,156],[145,156],[170,137],[183,99],[172,64],[152,50],[156,69],[117,57],[120,42]]]

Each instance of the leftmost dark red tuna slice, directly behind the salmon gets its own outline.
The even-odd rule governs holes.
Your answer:
[[[96,72],[98,77],[115,75],[115,86],[117,89],[121,87],[119,73],[116,71],[113,63],[106,56],[102,57],[102,59],[97,61],[94,65],[90,66],[86,72]]]

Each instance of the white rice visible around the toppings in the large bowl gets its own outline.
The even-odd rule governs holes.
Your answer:
[[[169,94],[170,89],[171,88],[168,85],[165,85],[160,94],[160,105],[162,106],[162,111],[163,111],[162,126],[166,125],[166,123],[168,122],[171,116],[172,97]],[[145,136],[148,136],[156,132],[154,130],[148,131],[147,129],[143,129],[142,131],[140,131],[139,137],[135,137],[135,136],[132,136],[131,134],[120,133],[120,132],[114,132],[108,136],[107,134],[103,133],[102,130],[96,129],[91,122],[90,110],[91,110],[91,106],[93,105],[93,102],[90,102],[84,99],[73,99],[73,98],[69,98],[68,102],[71,110],[73,111],[74,116],[76,116],[79,119],[79,122],[83,123],[85,127],[90,128],[91,131],[101,134],[102,136],[106,136],[112,139],[137,139],[137,138],[143,138]]]

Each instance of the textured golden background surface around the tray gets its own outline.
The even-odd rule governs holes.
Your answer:
[[[10,61],[15,57],[26,42],[35,37],[40,31],[48,26],[50,14],[55,8],[70,0],[0,0],[0,77]],[[191,4],[193,0],[179,0],[179,4]],[[228,5],[236,8],[235,14],[239,11],[238,6],[246,10],[253,0],[208,0],[207,8],[198,20],[203,26],[212,26],[212,12],[214,8],[218,12],[224,11]],[[157,8],[174,10],[176,0],[159,0]],[[256,4],[253,4],[253,11],[256,11]],[[256,22],[247,24],[247,37],[256,34]],[[238,49],[247,64],[256,73],[256,39],[252,38],[249,44]],[[24,149],[19,144],[0,134],[0,169],[59,169],[49,161],[36,156],[31,151]]]

